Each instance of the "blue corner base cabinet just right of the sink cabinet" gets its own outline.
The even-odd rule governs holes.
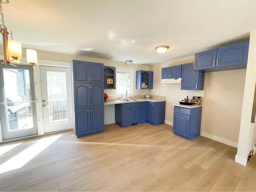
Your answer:
[[[150,102],[147,101],[147,122],[158,125],[165,120],[165,101]]]

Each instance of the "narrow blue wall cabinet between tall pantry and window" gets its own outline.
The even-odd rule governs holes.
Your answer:
[[[104,89],[116,89],[116,68],[104,66]]]

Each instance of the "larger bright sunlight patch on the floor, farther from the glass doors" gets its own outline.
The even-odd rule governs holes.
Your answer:
[[[26,150],[20,152],[0,165],[0,174],[22,167],[36,155],[38,155],[42,150],[56,141],[60,136],[61,135],[56,135],[38,140],[35,144],[26,148]]]

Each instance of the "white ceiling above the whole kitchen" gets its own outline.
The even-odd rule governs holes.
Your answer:
[[[9,0],[5,24],[23,47],[152,64],[249,36],[253,1]],[[168,45],[157,53],[154,48]]]

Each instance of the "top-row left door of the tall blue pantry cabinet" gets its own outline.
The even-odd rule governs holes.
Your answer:
[[[89,66],[87,61],[73,60],[74,83],[89,83]]]

